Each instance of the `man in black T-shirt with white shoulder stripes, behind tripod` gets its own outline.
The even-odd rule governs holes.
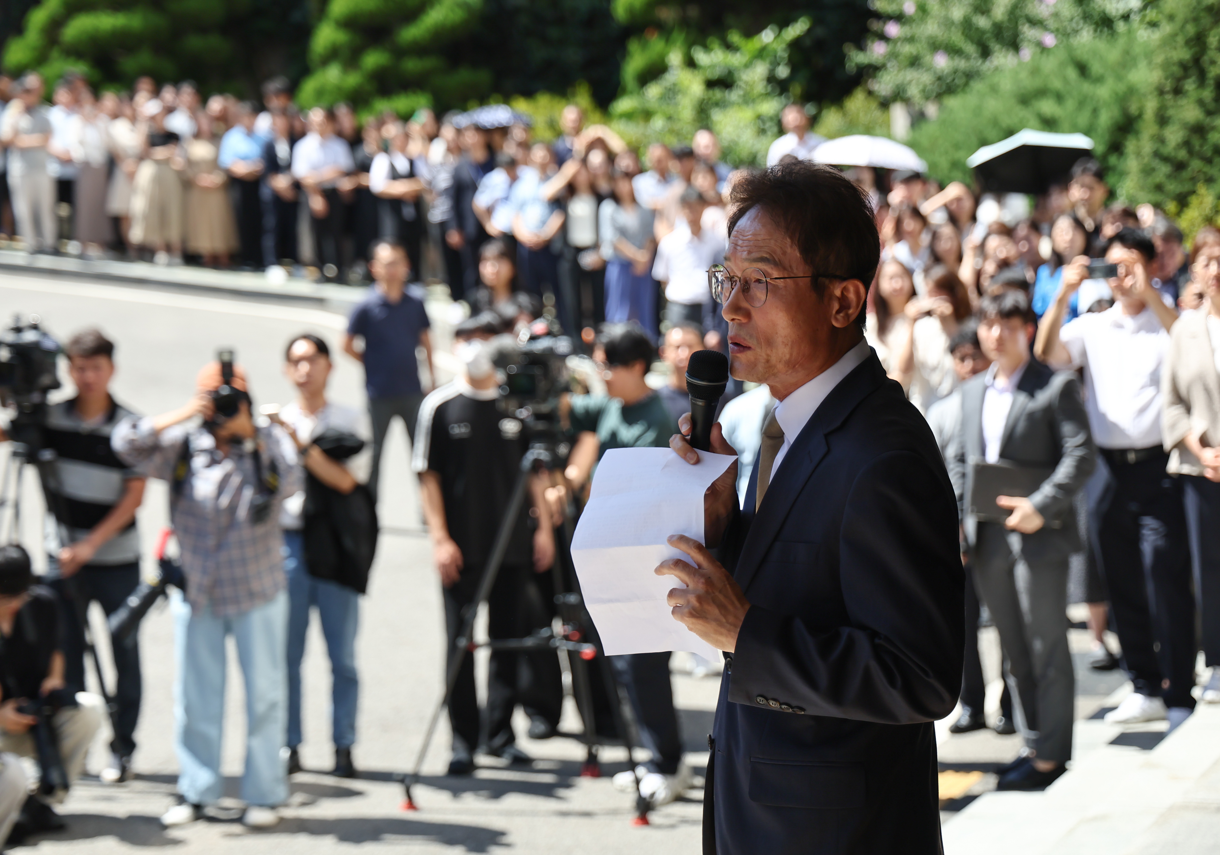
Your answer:
[[[423,517],[443,587],[450,661],[458,655],[454,642],[461,632],[462,612],[475,599],[528,450],[522,422],[497,405],[500,388],[489,339],[501,329],[503,318],[494,312],[476,315],[458,326],[454,350],[464,365],[462,374],[423,399],[415,431],[411,462],[420,476]],[[521,638],[529,632],[532,627],[523,626],[521,610],[531,571],[544,573],[555,560],[544,487],[540,476],[532,479],[529,505],[522,506],[488,596],[488,635],[493,639]],[[528,678],[522,679],[521,672],[527,672]],[[481,744],[473,657],[465,656],[458,674],[449,698],[453,759],[448,773],[470,775],[475,770],[473,751]],[[554,733],[562,704],[558,656],[549,650],[495,650],[487,681],[484,750],[512,764],[531,762],[516,745],[512,709],[518,703],[526,707],[534,722],[532,734]],[[555,690],[548,692],[548,687]],[[545,734],[539,732],[543,729]]]

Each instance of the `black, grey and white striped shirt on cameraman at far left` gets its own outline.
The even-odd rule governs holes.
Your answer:
[[[85,421],[76,399],[52,404],[46,411],[43,443],[56,454],[55,478],[48,484],[51,512],[45,517],[46,554],[59,555],[67,542],[89,537],[98,523],[118,504],[127,482],[139,473],[123,463],[110,446],[115,427],[134,413],[111,399],[104,417]],[[90,566],[118,566],[140,560],[140,538],[133,520],[127,528],[104,543]]]

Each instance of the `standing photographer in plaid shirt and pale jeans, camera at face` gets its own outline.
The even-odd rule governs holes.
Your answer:
[[[206,365],[196,387],[177,410],[124,420],[111,440],[128,465],[170,482],[187,581],[185,596],[176,593],[172,605],[179,803],[161,822],[200,818],[223,790],[224,639],[233,635],[246,695],[242,822],[267,828],[279,821],[276,809],[288,798],[281,755],[288,727],[288,592],[278,517],[284,498],[300,490],[301,473],[283,428],[255,427],[238,366]]]

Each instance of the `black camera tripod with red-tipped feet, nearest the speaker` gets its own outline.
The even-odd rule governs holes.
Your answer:
[[[527,429],[533,427],[531,424],[533,417],[528,417],[525,421]],[[545,431],[547,428],[544,427],[542,429]],[[420,745],[420,751],[416,755],[414,768],[409,773],[398,776],[405,789],[405,798],[403,801],[404,810],[418,810],[411,796],[411,787],[420,782],[420,768],[423,766],[423,757],[428,753],[428,746],[432,743],[432,737],[434,735],[437,724],[440,720],[440,714],[449,704],[449,698],[458,683],[458,673],[461,670],[462,661],[467,654],[472,654],[481,646],[488,648],[492,651],[565,650],[570,654],[569,665],[572,673],[572,693],[576,699],[577,709],[581,712],[583,729],[582,733],[569,733],[561,735],[569,735],[578,739],[584,743],[588,749],[588,754],[581,767],[581,777],[601,776],[600,762],[598,760],[598,749],[600,746],[620,744],[626,746],[627,761],[632,768],[632,775],[636,778],[636,817],[632,823],[637,826],[649,825],[648,811],[651,809],[651,803],[639,793],[640,776],[634,771],[634,749],[639,740],[634,733],[634,718],[630,712],[627,694],[615,676],[614,670],[610,667],[609,661],[606,661],[600,644],[597,642],[593,621],[589,618],[588,611],[584,609],[584,601],[581,598],[580,583],[576,578],[576,573],[572,572],[570,566],[567,566],[571,560],[569,549],[571,543],[571,523],[569,522],[571,518],[570,516],[565,518],[564,526],[555,532],[555,562],[551,566],[551,576],[555,581],[556,592],[555,604],[559,606],[562,623],[561,628],[538,629],[526,638],[490,639],[482,643],[473,640],[475,620],[478,616],[478,607],[487,601],[492,593],[492,587],[495,584],[497,576],[500,572],[500,565],[503,563],[505,553],[509,548],[509,542],[512,538],[514,529],[518,524],[521,510],[528,493],[529,481],[536,474],[551,471],[554,468],[555,456],[556,455],[551,443],[536,440],[531,443],[529,450],[526,451],[521,459],[517,479],[512,488],[509,506],[500,520],[499,528],[497,529],[492,554],[483,570],[483,576],[479,579],[477,593],[475,599],[471,600],[471,603],[462,610],[461,629],[454,640],[453,650],[455,655],[453,661],[449,662],[449,668],[445,674],[444,694],[437,704],[432,717],[428,720],[428,727],[425,732],[423,743]],[[565,574],[565,570],[569,571],[569,573]],[[565,576],[571,578],[571,587],[576,590],[567,590],[569,584]],[[576,655],[573,656],[571,654]],[[608,698],[610,699],[610,711],[614,718],[615,729],[620,734],[621,740],[600,737],[597,733],[597,720],[593,701],[594,677],[590,673],[593,668],[589,667],[594,662],[598,666],[595,670],[601,673],[605,683],[604,688]]]

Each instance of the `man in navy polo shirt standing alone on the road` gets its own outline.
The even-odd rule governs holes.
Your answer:
[[[403,244],[389,238],[377,240],[368,270],[373,274],[373,287],[351,312],[343,350],[365,365],[368,418],[373,434],[368,489],[376,495],[386,432],[394,416],[403,420],[407,435],[415,443],[415,420],[423,400],[420,368],[415,359],[417,346],[422,346],[427,354],[429,377],[433,371],[428,315],[423,311],[423,301],[406,293],[406,277],[411,265]],[[360,350],[356,350],[356,338],[364,340]]]

